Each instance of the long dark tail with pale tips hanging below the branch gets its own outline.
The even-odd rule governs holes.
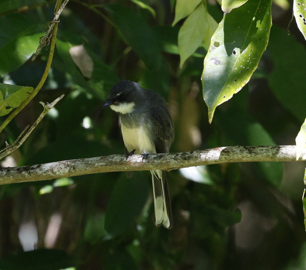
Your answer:
[[[162,170],[151,171],[154,198],[153,221],[155,226],[163,225],[172,228],[172,210],[166,173]]]

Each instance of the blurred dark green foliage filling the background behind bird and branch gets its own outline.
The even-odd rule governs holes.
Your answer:
[[[171,152],[295,144],[305,118],[306,48],[295,22],[290,36],[286,31],[293,3],[273,1],[274,24],[259,67],[208,124],[200,78],[209,39],[222,20],[221,1],[186,2],[186,13],[178,14],[175,0],[71,0],[60,17],[47,81],[0,134],[1,146],[35,121],[39,101],[65,97],[1,166],[123,154],[118,116],[101,111],[121,79],[169,101]],[[30,58],[54,5],[0,2],[2,83],[35,88],[48,51]],[[188,48],[188,27],[203,22],[192,12],[204,7],[205,37]],[[171,171],[171,230],[153,225],[147,171],[130,179],[118,172],[2,185],[0,269],[305,269],[304,167],[266,162]]]

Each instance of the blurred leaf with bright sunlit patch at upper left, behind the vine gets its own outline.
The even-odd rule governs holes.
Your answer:
[[[0,18],[0,76],[24,64],[35,52],[42,27],[29,16],[8,14]]]

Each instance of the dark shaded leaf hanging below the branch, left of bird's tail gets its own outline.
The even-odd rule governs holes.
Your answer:
[[[131,229],[147,201],[148,182],[136,178],[138,175],[135,173],[132,178],[127,178],[122,173],[110,194],[105,212],[105,229],[111,236]]]

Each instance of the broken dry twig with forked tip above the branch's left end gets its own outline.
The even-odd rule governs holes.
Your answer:
[[[29,125],[21,132],[21,134],[18,136],[18,138],[15,140],[15,142],[13,142],[13,144],[11,145],[7,145],[5,148],[3,148],[0,151],[0,160],[4,157],[6,157],[7,155],[9,155],[10,153],[12,153],[13,151],[15,151],[16,149],[18,149],[23,143],[24,141],[28,138],[28,136],[32,133],[32,131],[34,130],[34,128],[36,128],[36,126],[39,124],[39,122],[43,119],[43,117],[47,114],[47,112],[56,104],[58,103],[58,101],[60,101],[62,98],[64,97],[64,94],[61,95],[60,97],[58,97],[57,99],[55,99],[52,103],[43,103],[43,102],[39,102],[41,105],[43,105],[43,112],[39,115],[39,117],[37,118],[37,120],[35,121],[35,123],[31,126],[31,128],[29,128]],[[26,132],[27,131],[27,132]],[[22,135],[26,132],[26,134],[22,137]],[[22,137],[22,138],[21,138]],[[1,176],[0,176],[1,179]]]

